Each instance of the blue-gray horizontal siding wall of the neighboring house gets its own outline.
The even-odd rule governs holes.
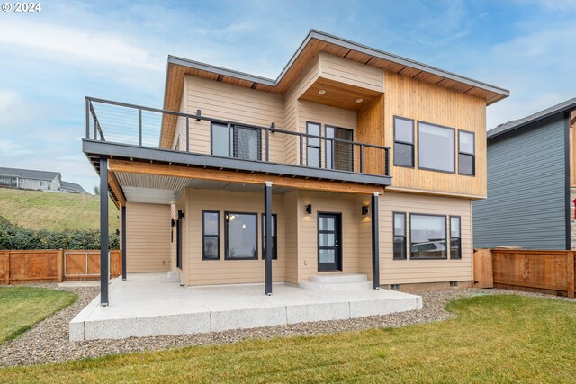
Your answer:
[[[564,121],[488,143],[488,199],[473,202],[474,247],[566,249]]]

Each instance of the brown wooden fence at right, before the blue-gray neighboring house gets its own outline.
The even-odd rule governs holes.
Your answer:
[[[474,286],[564,293],[574,297],[574,251],[479,249]]]

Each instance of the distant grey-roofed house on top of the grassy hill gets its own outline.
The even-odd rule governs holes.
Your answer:
[[[35,171],[31,169],[0,167],[0,186],[23,190],[85,193],[85,190],[80,185],[62,181],[62,174],[59,172]]]

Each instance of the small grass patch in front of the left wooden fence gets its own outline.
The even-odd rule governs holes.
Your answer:
[[[0,344],[15,339],[76,299],[76,293],[63,290],[0,287]]]

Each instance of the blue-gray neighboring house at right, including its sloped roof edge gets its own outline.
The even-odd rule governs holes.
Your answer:
[[[576,98],[488,134],[488,199],[473,204],[474,247],[575,249]]]

